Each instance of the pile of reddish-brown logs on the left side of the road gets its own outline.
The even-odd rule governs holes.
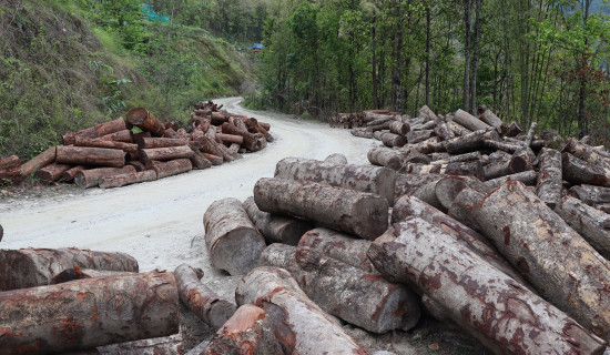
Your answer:
[[[177,131],[173,122],[132,109],[125,119],[64,134],[62,145],[23,164],[16,155],[0,160],[0,184],[34,174],[43,183],[119,187],[231,162],[273,141],[270,124],[221,108],[212,101],[195,104],[186,129]]]

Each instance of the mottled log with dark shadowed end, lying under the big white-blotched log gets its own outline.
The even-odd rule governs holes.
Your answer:
[[[408,331],[419,321],[418,300],[405,286],[318,251],[272,244],[261,262],[287,270],[322,310],[369,332]]]

